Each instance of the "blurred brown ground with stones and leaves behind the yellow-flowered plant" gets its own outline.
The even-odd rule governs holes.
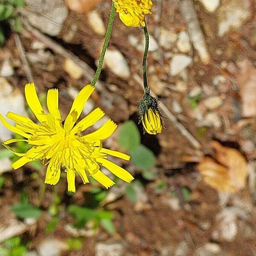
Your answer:
[[[24,86],[58,88],[66,116],[93,78],[111,0],[0,0],[0,113],[34,119]],[[144,34],[116,14],[105,65],[83,115],[119,128],[106,148],[135,180],[67,192],[40,162],[12,170],[0,148],[0,255],[255,256],[256,0],[153,0],[148,82],[165,116],[143,134]],[[104,122],[104,120],[102,121]],[[100,124],[98,124],[100,125]],[[98,128],[99,126],[94,126]],[[0,140],[15,135],[0,125]],[[14,145],[26,152],[26,143]],[[103,170],[104,171],[104,170]]]

